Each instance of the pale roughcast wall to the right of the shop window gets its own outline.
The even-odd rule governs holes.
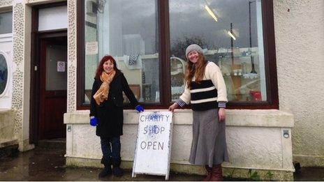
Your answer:
[[[295,116],[293,156],[324,166],[324,1],[274,0],[279,107]]]

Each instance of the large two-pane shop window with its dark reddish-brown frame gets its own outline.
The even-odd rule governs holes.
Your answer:
[[[89,108],[96,66],[105,54],[117,59],[146,108],[167,108],[184,91],[185,49],[197,43],[221,68],[228,108],[278,109],[272,0],[78,3],[84,11],[79,108]]]

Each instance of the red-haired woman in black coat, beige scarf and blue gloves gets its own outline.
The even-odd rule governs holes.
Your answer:
[[[110,174],[123,175],[119,167],[120,136],[123,135],[124,123],[123,91],[135,109],[139,112],[144,111],[143,107],[138,105],[138,100],[129,88],[124,74],[117,68],[115,59],[109,55],[103,56],[94,77],[90,109],[90,124],[96,126],[96,135],[101,139],[101,163],[105,166],[99,173],[99,178]]]

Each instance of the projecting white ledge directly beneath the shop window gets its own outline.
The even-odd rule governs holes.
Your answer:
[[[167,109],[146,109],[146,111],[167,111]],[[124,110],[124,124],[138,124],[138,112]],[[175,125],[192,125],[191,109],[175,109]],[[89,110],[78,110],[64,114],[65,124],[89,124]],[[293,114],[277,109],[227,109],[226,126],[293,128]]]

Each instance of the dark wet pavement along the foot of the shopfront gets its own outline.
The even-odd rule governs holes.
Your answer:
[[[98,179],[101,169],[89,167],[66,167],[64,150],[34,149],[17,156],[0,159],[0,181],[164,181],[165,176],[137,175],[131,171],[124,176],[108,176]],[[170,173],[169,181],[202,181],[205,176]],[[302,167],[295,181],[324,181],[324,168]],[[244,179],[227,179],[229,181]]]

